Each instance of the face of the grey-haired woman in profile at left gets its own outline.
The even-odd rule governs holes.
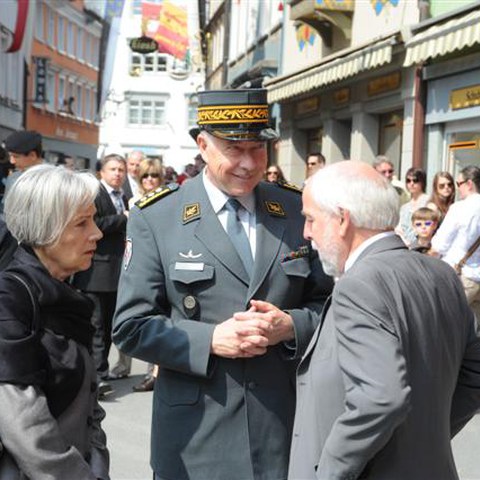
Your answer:
[[[55,245],[34,248],[52,277],[63,281],[90,267],[97,242],[103,237],[93,219],[95,212],[93,203],[80,208]]]

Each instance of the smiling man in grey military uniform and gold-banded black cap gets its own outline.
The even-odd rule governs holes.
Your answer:
[[[261,182],[265,90],[199,93],[192,136],[206,167],[130,213],[113,339],[158,364],[157,480],[287,477],[291,360],[332,289],[303,239],[301,196]]]

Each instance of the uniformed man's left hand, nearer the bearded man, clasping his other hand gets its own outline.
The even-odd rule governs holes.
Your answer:
[[[268,339],[268,345],[276,345],[280,342],[286,342],[295,338],[292,317],[280,310],[275,305],[262,300],[252,300],[251,308],[247,312],[239,312],[233,315],[233,318],[239,323],[258,320],[262,325],[269,325],[270,328],[262,331],[262,335]],[[242,349],[248,349],[249,338],[246,338],[241,344]]]

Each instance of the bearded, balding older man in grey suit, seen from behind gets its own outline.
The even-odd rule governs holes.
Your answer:
[[[341,162],[303,196],[339,277],[299,365],[289,478],[457,479],[450,439],[480,406],[480,343],[454,271],[393,233],[398,195]]]

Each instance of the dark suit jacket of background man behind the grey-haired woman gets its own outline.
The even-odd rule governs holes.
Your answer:
[[[123,198],[125,209],[127,201]],[[103,233],[97,243],[92,265],[75,274],[73,285],[84,292],[116,292],[125,248],[127,217],[117,214],[110,195],[103,185],[95,199],[95,222]]]

